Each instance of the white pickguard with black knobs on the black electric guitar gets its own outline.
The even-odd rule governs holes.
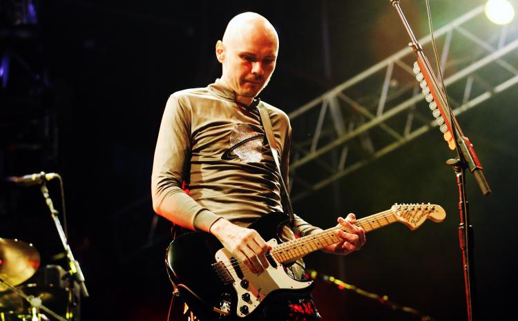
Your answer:
[[[277,240],[271,239],[267,242],[272,248],[277,245]],[[231,266],[231,254],[227,249],[220,249],[220,251],[215,253],[216,262],[223,262],[225,266]],[[282,264],[280,264],[274,257],[272,260],[275,260],[277,266],[274,267],[271,264],[268,265],[267,269],[260,274],[253,273],[248,269],[244,264],[240,264],[241,271],[244,275],[244,280],[248,281],[248,286],[246,289],[241,285],[240,278],[236,273],[235,269],[229,269],[229,273],[232,275],[233,279],[236,280],[233,282],[233,287],[236,289],[236,293],[238,294],[238,302],[236,313],[238,317],[244,318],[249,315],[254,309],[256,309],[259,304],[269,293],[280,290],[301,290],[307,289],[313,281],[297,281],[291,278],[284,270]],[[244,300],[248,295],[249,300]],[[242,307],[247,307],[243,309]],[[245,311],[245,312],[244,312]]]

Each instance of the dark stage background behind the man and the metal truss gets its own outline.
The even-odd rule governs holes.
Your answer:
[[[482,2],[431,3],[439,28]],[[427,35],[425,1],[403,5],[414,32]],[[151,207],[155,139],[171,93],[220,76],[214,45],[231,17],[255,11],[278,30],[278,65],[261,97],[287,112],[407,43],[389,1],[47,1],[38,8],[33,37],[2,38],[4,50],[15,48],[33,72],[46,77],[27,80],[30,72],[13,63],[9,86],[1,91],[0,174],[46,171],[64,178],[68,240],[90,292],[81,302],[82,320],[166,320],[171,285],[163,259],[171,224]],[[467,176],[480,320],[514,317],[511,294],[504,293],[512,293],[517,267],[515,109],[510,88],[459,117],[493,191],[481,196]],[[41,148],[28,148],[31,142]],[[337,215],[363,217],[394,202],[442,204],[448,213],[441,224],[425,222],[418,231],[394,225],[370,233],[362,251],[344,258],[314,253],[307,266],[436,320],[466,320],[457,186],[445,165],[450,157],[439,135],[428,133],[340,179],[340,213],[331,187],[297,202],[300,216],[325,228]],[[64,213],[57,180],[48,186]],[[2,184],[1,194],[0,237],[35,244],[42,265],[65,266],[56,257],[63,249],[39,189]],[[316,283],[324,320],[419,320]]]

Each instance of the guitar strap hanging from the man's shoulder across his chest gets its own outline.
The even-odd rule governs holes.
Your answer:
[[[262,127],[265,128],[266,139],[268,140],[268,145],[271,149],[271,154],[274,156],[274,161],[277,166],[277,171],[279,174],[280,181],[280,195],[281,195],[281,203],[284,205],[285,211],[287,211],[287,215],[289,218],[289,226],[293,229],[295,226],[295,215],[293,212],[293,207],[291,206],[291,200],[289,199],[288,189],[286,188],[286,184],[284,179],[282,178],[282,171],[280,170],[280,162],[279,162],[279,153],[277,151],[277,142],[275,140],[274,129],[271,126],[270,115],[268,114],[268,110],[265,106],[258,101],[257,108],[259,110],[259,115],[261,117]],[[284,196],[284,197],[282,197]],[[285,200],[285,202],[282,202]]]

